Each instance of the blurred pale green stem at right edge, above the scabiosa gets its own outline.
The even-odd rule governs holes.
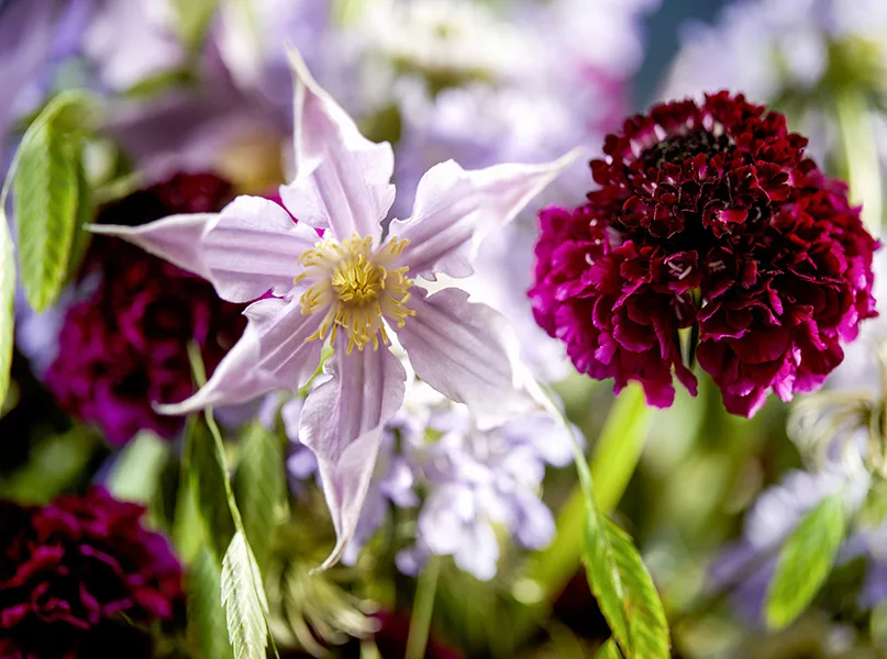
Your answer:
[[[880,163],[865,93],[853,87],[838,92],[835,118],[851,200],[863,204],[863,221],[878,234],[884,216]]]

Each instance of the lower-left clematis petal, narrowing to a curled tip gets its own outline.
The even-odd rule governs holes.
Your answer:
[[[299,389],[311,379],[321,342],[306,339],[318,330],[318,314],[302,315],[298,297],[259,300],[244,314],[250,321],[246,331],[209,381],[180,403],[157,405],[158,412],[188,414],[244,403],[275,389]]]

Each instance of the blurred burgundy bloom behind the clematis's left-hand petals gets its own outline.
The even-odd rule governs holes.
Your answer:
[[[97,221],[142,224],[213,212],[230,196],[230,185],[212,175],[177,175],[108,205]],[[243,332],[242,308],[220,300],[196,275],[106,236],[93,238],[78,289],[46,386],[68,413],[101,426],[111,444],[140,429],[174,436],[182,420],[157,414],[152,403],[195,392],[188,345],[200,347],[211,373]]]

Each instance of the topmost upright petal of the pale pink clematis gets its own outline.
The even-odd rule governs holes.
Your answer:
[[[395,201],[395,156],[387,142],[370,142],[290,51],[296,87],[296,179],[280,187],[300,222],[329,227],[334,238],[355,232],[378,242],[379,223]]]

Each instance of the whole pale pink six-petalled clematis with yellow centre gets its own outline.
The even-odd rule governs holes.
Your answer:
[[[472,275],[480,242],[509,222],[573,159],[466,171],[447,161],[419,182],[408,220],[381,221],[395,199],[388,143],[366,139],[292,54],[296,180],[284,204],[239,197],[221,213],[174,215],[140,227],[93,225],[201,275],[231,302],[257,300],[248,325],[209,382],[159,409],[185,414],[296,390],[315,372],[325,342],[331,376],[309,394],[299,437],[315,455],[337,534],[324,567],[354,533],[385,423],[403,401],[407,372],[470,405],[490,423],[525,410],[507,321],[458,288],[433,294],[417,278]],[[315,230],[323,230],[322,238]],[[509,340],[511,337],[511,340]]]

